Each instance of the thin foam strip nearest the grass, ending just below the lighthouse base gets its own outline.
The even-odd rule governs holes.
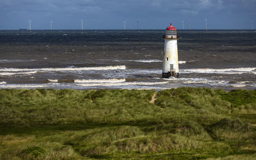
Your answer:
[[[127,86],[127,85],[155,85],[166,84],[168,82],[124,82],[124,83],[82,83],[79,86]]]

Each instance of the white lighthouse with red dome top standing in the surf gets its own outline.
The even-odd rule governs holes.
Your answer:
[[[163,78],[179,77],[179,61],[178,61],[178,47],[177,29],[169,26],[165,29],[164,38],[164,60],[163,60]]]

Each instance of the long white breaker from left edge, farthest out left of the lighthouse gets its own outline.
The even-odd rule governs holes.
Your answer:
[[[107,67],[76,67],[76,68],[0,68],[1,72],[26,72],[26,71],[77,71],[77,70],[125,70],[125,65]]]

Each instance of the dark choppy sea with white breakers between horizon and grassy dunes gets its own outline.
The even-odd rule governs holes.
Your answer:
[[[256,89],[255,30],[178,30],[179,78],[161,78],[163,30],[2,30],[0,89]]]

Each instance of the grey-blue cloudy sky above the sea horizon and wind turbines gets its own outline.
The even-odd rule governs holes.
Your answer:
[[[0,29],[256,29],[256,0],[0,0]]]

